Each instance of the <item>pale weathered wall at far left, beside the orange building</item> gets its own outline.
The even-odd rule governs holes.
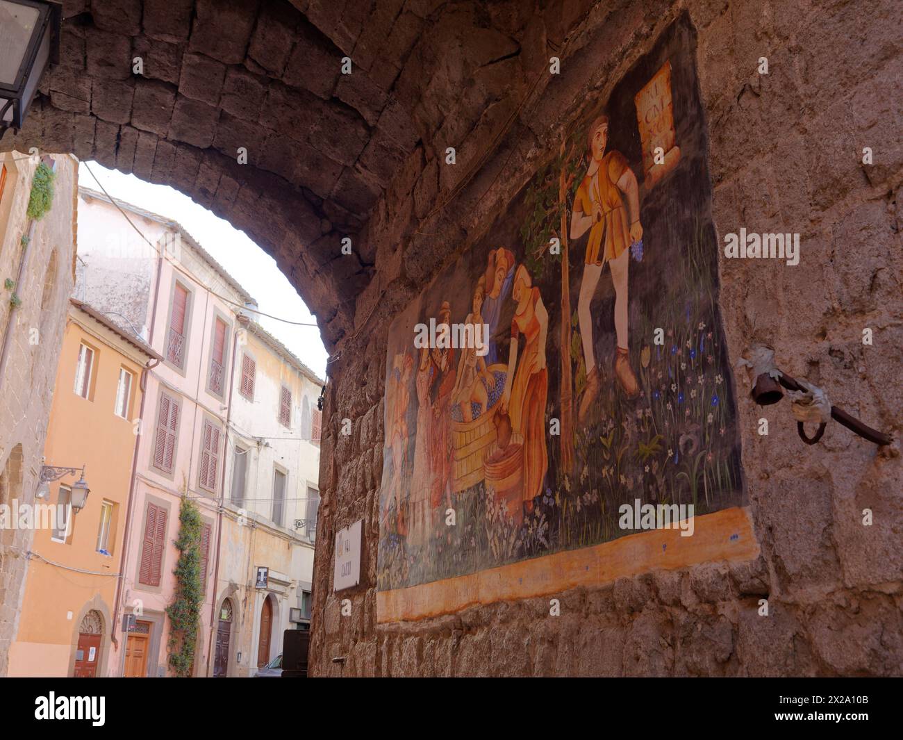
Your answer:
[[[11,160],[15,158],[15,162]],[[0,380],[0,473],[10,456],[17,456],[21,446],[21,482],[19,472],[12,485],[0,490],[0,504],[12,506],[34,503],[44,439],[53,399],[57,361],[60,357],[63,329],[73,285],[74,193],[77,188],[78,164],[69,155],[54,155],[57,177],[51,211],[38,221],[31,239],[27,269],[15,292],[22,305],[10,321],[10,292],[0,293],[0,342],[9,333],[9,359],[5,377]],[[22,256],[21,239],[28,233],[25,215],[37,164],[28,155],[12,152],[4,156],[11,175],[6,183],[4,200],[12,199],[8,217],[0,216],[0,282],[15,280]],[[12,182],[14,179],[14,182]],[[5,208],[4,208],[5,211]],[[5,231],[4,231],[5,229]],[[51,253],[56,251],[55,260]],[[54,285],[45,295],[44,285],[51,265],[55,267]],[[34,330],[38,330],[34,334]],[[36,339],[37,342],[33,342]],[[72,361],[75,359],[72,358]],[[78,461],[51,460],[48,464],[76,464]],[[7,490],[8,485],[8,490]],[[0,529],[0,676],[5,675],[9,646],[19,623],[25,574],[25,553],[31,547],[31,529]]]

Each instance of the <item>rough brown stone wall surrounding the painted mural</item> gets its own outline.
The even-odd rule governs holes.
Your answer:
[[[425,91],[406,88],[420,96],[407,101],[415,123],[431,116],[439,123],[377,202],[365,232],[376,249],[376,274],[358,297],[354,330],[329,369],[312,674],[900,674],[899,442],[879,451],[832,425],[819,445],[803,445],[787,401],[754,407],[741,373],[735,381],[742,462],[758,560],[575,589],[560,596],[560,617],[548,616],[548,599],[538,598],[377,626],[388,325],[439,267],[488,228],[583,102],[604,99],[681,12],[697,32],[720,243],[740,227],[801,234],[797,267],[721,254],[731,361],[750,343],[768,342],[787,372],[824,387],[833,403],[871,426],[900,435],[903,389],[894,380],[903,346],[899,5],[575,0],[533,11],[528,5],[435,4],[431,28],[444,28],[444,35],[424,33],[411,52],[421,63],[418,73],[430,80]],[[495,64],[507,52],[486,31],[485,14],[507,23],[519,40],[517,53]],[[442,39],[462,29],[469,38],[487,39],[480,74],[499,79],[456,77],[465,47]],[[474,52],[472,44],[466,51]],[[554,79],[543,71],[552,54],[562,60]],[[768,76],[757,71],[763,56]],[[405,84],[403,72],[396,83],[402,98]],[[491,104],[473,108],[486,89],[495,91]],[[437,155],[446,145],[459,151],[453,170]],[[861,164],[863,146],[871,147],[874,164]],[[468,177],[473,163],[481,166]],[[871,346],[862,343],[864,328],[874,333]],[[761,417],[769,421],[768,436],[757,434]],[[353,422],[351,436],[338,434],[343,418]],[[861,523],[866,508],[870,527]],[[362,582],[336,595],[334,536],[358,519],[364,520]],[[342,598],[352,602],[350,616],[340,616]],[[768,616],[759,616],[761,598],[768,599]]]

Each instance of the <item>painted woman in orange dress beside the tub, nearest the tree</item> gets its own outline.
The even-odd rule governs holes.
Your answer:
[[[533,286],[523,265],[517,267],[512,297],[517,309],[511,322],[502,409],[507,410],[512,428],[524,439],[524,511],[529,513],[533,511],[533,499],[543,490],[549,465],[545,448],[545,400],[549,392],[545,337],[549,314],[539,288]]]

